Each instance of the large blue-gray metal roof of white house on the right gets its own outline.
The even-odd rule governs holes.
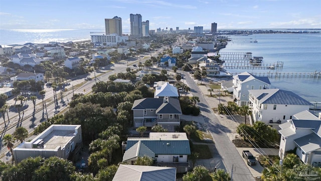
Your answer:
[[[255,89],[249,90],[249,93],[256,98],[260,98],[262,104],[276,104],[276,105],[312,105],[308,101],[299,97],[291,91],[284,91],[278,88],[273,89]]]

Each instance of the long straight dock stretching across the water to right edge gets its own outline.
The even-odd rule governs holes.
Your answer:
[[[240,72],[241,73],[241,72]],[[232,76],[240,73],[230,73]],[[256,76],[267,76],[267,77],[310,77],[310,78],[321,78],[321,72],[255,72],[251,73]]]

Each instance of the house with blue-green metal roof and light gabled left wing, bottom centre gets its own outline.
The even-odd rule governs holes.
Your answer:
[[[137,157],[147,156],[155,165],[176,167],[178,173],[189,170],[188,155],[191,147],[186,133],[149,133],[149,137],[128,137],[122,143],[125,149],[122,162],[134,164]]]

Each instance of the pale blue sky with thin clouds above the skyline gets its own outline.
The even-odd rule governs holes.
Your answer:
[[[149,20],[149,30],[321,28],[321,0],[1,0],[0,29],[102,29],[118,16]]]

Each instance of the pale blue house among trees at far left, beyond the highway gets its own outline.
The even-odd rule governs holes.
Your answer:
[[[45,61],[44,59],[37,58],[35,54],[28,54],[28,53],[14,54],[10,57],[10,60],[14,63],[18,63],[21,66],[31,65],[32,67]]]

